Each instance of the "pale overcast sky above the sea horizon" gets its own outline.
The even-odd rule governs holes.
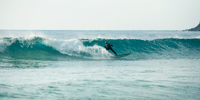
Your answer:
[[[200,0],[0,0],[6,30],[184,30]]]

